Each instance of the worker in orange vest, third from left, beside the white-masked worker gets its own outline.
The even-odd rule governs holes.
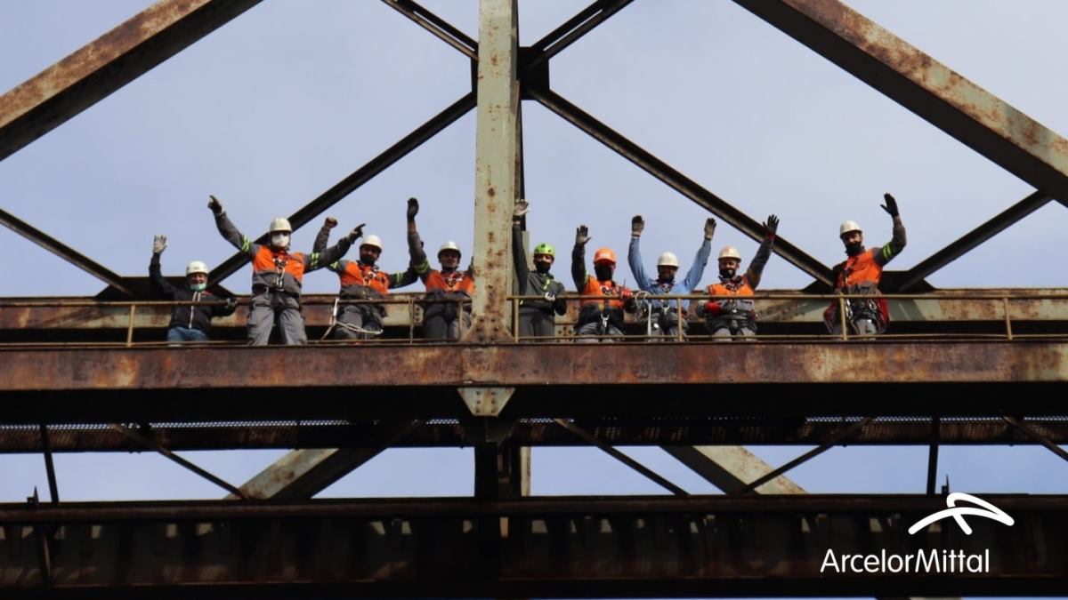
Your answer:
[[[330,230],[337,225],[337,219],[327,217],[315,236],[312,250],[321,252],[330,240]],[[415,269],[387,273],[378,268],[378,258],[382,254],[382,240],[376,235],[363,238],[360,244],[359,260],[334,260],[327,269],[337,273],[341,283],[339,301],[345,300],[381,300],[390,295],[390,289],[411,285],[419,281]],[[377,303],[354,303],[334,306],[334,340],[372,340],[382,333],[382,318],[386,306]]]

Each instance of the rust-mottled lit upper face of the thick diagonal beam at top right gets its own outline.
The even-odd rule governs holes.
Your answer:
[[[1003,139],[1068,174],[1068,140],[838,0],[781,0]]]

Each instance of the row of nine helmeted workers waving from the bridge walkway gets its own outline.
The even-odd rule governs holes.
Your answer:
[[[307,344],[301,314],[301,284],[305,273],[327,268],[337,273],[341,289],[334,304],[331,332],[336,340],[366,340],[382,332],[384,300],[390,290],[422,281],[426,287],[423,305],[423,336],[427,340],[457,340],[470,325],[471,304],[468,302],[476,285],[471,266],[460,270],[462,257],[459,246],[446,241],[438,249],[438,269],[431,269],[423,240],[415,226],[419,201],[409,199],[407,237],[409,263],[404,271],[389,273],[378,267],[382,242],[378,236],[363,237],[364,224],[356,226],[334,246],[328,246],[330,233],[337,225],[327,218],[315,237],[310,254],[289,251],[293,228],[286,219],[271,221],[266,243],[257,243],[242,235],[230,221],[226,211],[215,196],[208,203],[216,226],[222,237],[245,254],[252,263],[252,296],[248,317],[248,342],[266,345],[277,327],[283,344]],[[885,330],[889,322],[885,301],[878,289],[882,269],[905,248],[905,226],[897,203],[884,194],[882,208],[893,220],[892,239],[884,246],[864,248],[861,226],[855,221],[842,224],[838,235],[848,258],[835,266],[835,289],[849,296],[844,305],[846,318],[838,314],[839,304],[832,302],[823,314],[828,330],[841,333],[842,322],[853,332],[873,335]],[[555,316],[567,312],[565,286],[552,272],[555,249],[549,243],[538,243],[533,252],[533,270],[530,268],[525,244],[522,241],[525,216],[530,204],[519,200],[515,204],[512,231],[515,268],[514,291],[524,297],[519,303],[520,338],[552,337]],[[599,248],[594,252],[594,272],[586,271],[585,248],[591,240],[590,228],[580,225],[571,250],[571,279],[579,295],[579,317],[575,335],[579,342],[611,342],[623,335],[625,313],[643,312],[646,333],[665,338],[680,338],[687,330],[685,302],[658,296],[685,296],[691,294],[704,275],[711,254],[711,239],[716,220],[704,223],[704,240],[697,249],[682,281],[676,281],[679,262],[675,254],[664,252],[657,259],[656,277],[645,271],[641,254],[641,237],[645,221],[635,216],[631,221],[630,246],[627,252],[630,270],[638,281],[639,290],[619,285],[613,279],[616,267],[615,252]],[[765,265],[771,257],[779,230],[779,218],[768,217],[764,223],[764,239],[749,268],[741,274],[742,257],[734,247],[724,247],[718,256],[718,282],[703,291],[711,300],[694,302],[698,317],[704,318],[709,334],[716,340],[747,338],[756,334],[757,314],[753,302],[754,290],[760,284]],[[343,257],[360,238],[359,259]],[[225,302],[206,290],[208,270],[200,260],[189,263],[186,286],[173,286],[160,274],[160,254],[167,247],[164,236],[156,236],[150,263],[151,281],[167,298],[182,302],[172,310],[168,342],[201,342],[208,338],[210,319],[232,314],[237,306],[234,298]],[[352,302],[358,301],[358,302]],[[188,302],[188,304],[185,304]],[[681,328],[681,331],[679,330]]]

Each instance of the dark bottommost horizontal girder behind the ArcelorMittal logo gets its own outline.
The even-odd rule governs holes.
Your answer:
[[[5,505],[0,594],[158,599],[659,598],[665,589],[690,597],[1068,593],[1068,498],[983,500],[1015,524],[967,517],[972,535],[951,519],[908,534],[945,508],[937,495]],[[835,563],[843,554],[862,554],[875,555],[878,565],[883,553],[921,551],[957,572],[857,573],[827,566],[829,552]],[[943,551],[980,559],[945,563]],[[892,567],[893,559],[886,564]],[[985,570],[959,572],[976,566]]]

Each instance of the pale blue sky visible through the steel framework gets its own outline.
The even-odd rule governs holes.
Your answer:
[[[144,0],[0,0],[0,90],[9,90],[146,6]],[[1068,53],[1056,0],[854,0],[857,10],[1047,127],[1068,132]],[[472,37],[477,2],[424,5]],[[530,44],[585,5],[520,2]],[[662,159],[764,220],[826,264],[842,259],[837,226],[881,243],[896,195],[906,269],[1033,189],[821,57],[738,7],[705,0],[639,1],[553,59],[553,89]],[[465,57],[377,1],[263,2],[145,76],[0,161],[0,206],[121,274],[143,274],[154,234],[164,272],[233,252],[215,232],[207,194],[258,234],[342,179],[469,90]],[[647,226],[647,263],[664,250],[687,268],[704,211],[534,102],[523,106],[529,228],[569,248],[587,223],[595,243],[624,252],[632,215]],[[359,222],[403,267],[404,201],[420,198],[433,246],[471,247],[474,111],[328,211]],[[314,224],[317,226],[320,218]],[[940,287],[1063,286],[1068,210],[1051,204],[930,278]],[[294,235],[311,247],[315,226]],[[95,279],[2,228],[18,277],[0,296],[91,296]],[[713,248],[756,243],[721,224]],[[566,255],[566,252],[565,252]],[[566,279],[567,265],[555,269]],[[704,284],[710,283],[706,271]],[[633,281],[622,268],[617,280]],[[810,279],[773,257],[768,288]],[[225,284],[247,293],[242,269]],[[336,289],[319,272],[305,289]],[[858,398],[858,402],[863,399]],[[784,398],[788,401],[788,398]],[[803,448],[752,448],[780,463]],[[714,490],[658,448],[632,456],[692,492]],[[240,483],[280,452],[187,453]],[[1068,492],[1066,465],[1035,447],[943,448],[939,479],[970,492]],[[390,451],[323,495],[469,494],[469,449]],[[220,491],[152,454],[57,457],[65,500],[216,498]],[[813,492],[921,492],[925,448],[835,448],[790,476]],[[40,456],[0,456],[0,501],[47,489]],[[116,476],[121,474],[121,476]],[[587,448],[536,449],[535,493],[659,493]]]

